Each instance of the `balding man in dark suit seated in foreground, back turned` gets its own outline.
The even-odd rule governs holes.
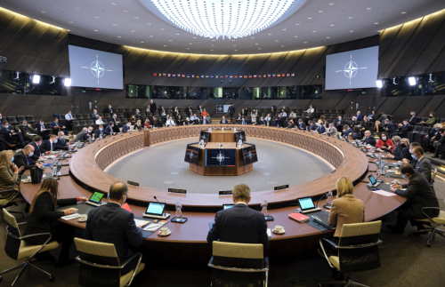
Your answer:
[[[86,240],[114,244],[121,264],[138,251],[143,240],[141,227],[134,223],[134,214],[121,207],[127,196],[128,187],[125,183],[113,183],[109,187],[109,202],[88,213],[84,233]],[[121,274],[133,270],[138,260],[136,257],[125,265]]]

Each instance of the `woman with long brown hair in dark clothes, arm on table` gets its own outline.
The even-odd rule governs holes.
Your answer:
[[[64,267],[73,264],[74,259],[69,259],[69,249],[74,240],[75,227],[64,224],[60,219],[62,216],[72,214],[73,208],[65,211],[55,211],[56,206],[76,204],[78,201],[85,203],[85,197],[58,199],[59,184],[55,179],[44,179],[42,187],[34,196],[29,208],[28,223],[23,235],[36,235],[40,233],[50,233],[51,241],[56,240],[61,243],[61,254],[57,267]],[[43,244],[48,239],[48,235],[32,236],[23,238],[30,244]]]

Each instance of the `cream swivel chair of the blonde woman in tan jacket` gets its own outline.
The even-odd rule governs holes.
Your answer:
[[[365,223],[344,224],[342,234],[338,244],[333,243],[327,238],[320,239],[321,250],[328,261],[329,267],[336,268],[338,271],[346,273],[347,278],[344,281],[328,281],[320,283],[320,286],[342,285],[342,286],[365,286],[360,283],[352,282],[350,273],[357,271],[367,271],[380,267],[380,257],[378,253],[378,244],[382,243],[378,239],[380,235],[382,221],[372,221]],[[335,248],[337,254],[328,256],[325,246]]]

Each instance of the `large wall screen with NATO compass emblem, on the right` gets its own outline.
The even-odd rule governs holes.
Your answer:
[[[378,46],[326,56],[325,90],[375,88]]]

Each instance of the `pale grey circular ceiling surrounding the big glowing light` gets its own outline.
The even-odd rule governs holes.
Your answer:
[[[443,0],[294,0],[294,10],[289,8],[269,27],[253,31],[250,36],[216,39],[178,28],[156,7],[149,10],[142,2],[2,0],[1,5],[69,29],[71,34],[103,42],[166,52],[223,55],[287,52],[344,43],[445,9]]]

